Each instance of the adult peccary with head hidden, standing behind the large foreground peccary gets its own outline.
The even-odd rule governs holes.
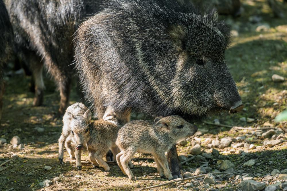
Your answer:
[[[73,33],[84,17],[97,11],[94,0],[6,0],[19,57],[30,65],[35,82],[34,105],[43,103],[43,65],[60,91],[59,113],[69,103]]]

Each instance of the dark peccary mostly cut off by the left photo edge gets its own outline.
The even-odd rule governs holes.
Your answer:
[[[4,93],[3,67],[13,50],[13,30],[3,0],[0,0],[0,120]]]

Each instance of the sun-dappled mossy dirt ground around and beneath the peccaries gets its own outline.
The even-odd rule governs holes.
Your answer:
[[[264,180],[263,176],[271,173],[273,169],[282,171],[287,168],[287,122],[275,122],[274,118],[283,111],[287,105],[287,81],[273,82],[272,75],[278,74],[287,78],[287,21],[285,18],[274,18],[265,1],[243,1],[244,12],[239,18],[226,18],[233,29],[231,47],[226,50],[226,60],[230,71],[236,81],[238,90],[245,104],[244,111],[235,115],[220,115],[207,119],[206,122],[214,123],[218,119],[220,124],[231,127],[250,127],[251,130],[209,125],[198,122],[201,133],[187,138],[184,146],[177,145],[179,155],[191,157],[189,150],[196,143],[201,144],[204,152],[212,153],[217,149],[220,155],[212,153],[208,163],[191,162],[182,166],[182,171],[193,172],[203,165],[216,170],[218,160],[230,160],[234,165],[233,176],[216,177],[216,185],[202,183],[194,184],[200,190],[207,188],[219,188],[220,190],[238,189],[239,181],[236,174],[246,173],[254,180],[273,184],[274,180]],[[258,16],[262,20],[259,23],[251,23],[252,16]],[[258,26],[261,27],[260,31]],[[238,33],[238,36],[237,34]],[[102,167],[93,168],[90,164],[83,164],[82,170],[77,170],[65,152],[65,161],[70,164],[61,165],[58,161],[58,138],[61,134],[61,118],[55,118],[59,105],[59,93],[55,90],[54,83],[45,78],[46,90],[43,107],[32,107],[33,93],[29,91],[30,77],[21,72],[8,72],[4,95],[3,117],[1,122],[0,137],[7,140],[7,144],[0,145],[0,164],[12,159],[0,167],[0,190],[14,188],[14,190],[137,190],[146,186],[153,186],[167,182],[160,178],[152,156],[135,155],[132,169],[138,180],[131,181],[123,176],[116,164],[110,164],[111,170],[104,172]],[[19,74],[20,73],[20,74]],[[76,88],[72,88],[70,104],[80,101]],[[137,115],[138,117],[139,115]],[[141,115],[140,115],[141,116]],[[136,115],[133,115],[135,118]],[[253,118],[248,123],[243,118]],[[37,127],[44,128],[44,132],[38,132]],[[273,128],[275,135],[266,140],[280,139],[281,143],[274,147],[264,145],[266,141],[261,135]],[[36,129],[35,129],[36,128]],[[255,130],[256,129],[256,130]],[[13,149],[9,144],[13,136],[19,136],[24,149]],[[223,137],[240,137],[229,147],[219,148],[216,138],[220,141]],[[210,139],[207,139],[210,138]],[[210,143],[208,140],[214,140]],[[245,147],[234,148],[236,143],[247,143]],[[210,145],[208,145],[210,144]],[[256,149],[249,149],[248,144],[254,144]],[[15,155],[17,156],[15,156]],[[13,155],[13,157],[12,157]],[[87,159],[84,151],[83,159]],[[255,160],[255,165],[243,167],[242,164],[250,159]],[[45,170],[44,166],[51,166],[51,170]],[[3,170],[7,167],[5,170]],[[76,176],[79,175],[79,176]],[[278,175],[277,175],[278,176]],[[60,177],[55,182],[53,178]],[[39,182],[51,180],[53,183],[45,188]],[[185,182],[186,183],[186,182]],[[185,183],[183,185],[185,185]],[[282,182],[283,183],[283,182]],[[157,190],[186,189],[181,184],[169,184],[158,187]],[[283,188],[283,187],[282,187]],[[191,188],[188,188],[191,189]],[[278,189],[280,189],[278,187]]]

